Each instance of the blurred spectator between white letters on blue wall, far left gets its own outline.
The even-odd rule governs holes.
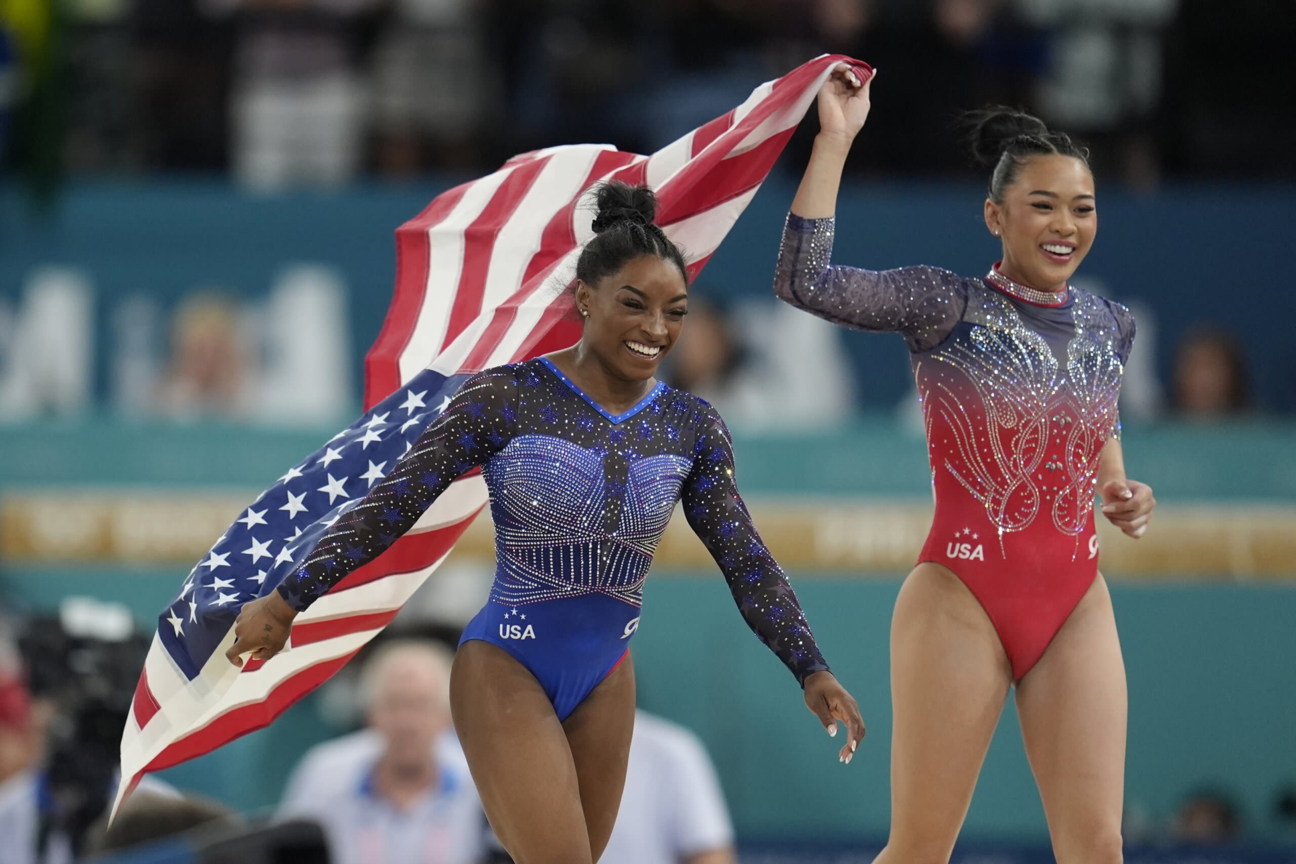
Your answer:
[[[249,361],[238,306],[214,292],[191,294],[175,311],[161,411],[178,419],[249,414]]]

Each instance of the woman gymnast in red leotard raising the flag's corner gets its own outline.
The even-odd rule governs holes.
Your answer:
[[[1098,230],[1086,153],[1030,115],[982,112],[973,150],[994,166],[985,222],[1003,259],[976,279],[833,266],[864,75],[839,66],[819,92],[775,291],[844,327],[901,333],[923,403],[936,515],[892,620],[892,830],[877,861],[949,860],[1015,685],[1056,859],[1116,864],[1125,669],[1094,496],[1134,538],[1156,502],[1126,479],[1120,446],[1134,319],[1068,283]]]

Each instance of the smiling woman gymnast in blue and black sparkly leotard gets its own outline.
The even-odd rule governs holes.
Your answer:
[[[723,422],[654,378],[679,337],[688,279],[653,223],[652,191],[604,184],[597,205],[577,263],[581,341],[470,378],[305,564],[244,606],[227,654],[236,666],[246,653],[272,656],[297,612],[482,466],[498,563],[455,656],[451,711],[486,815],[518,864],[592,864],[608,842],[634,726],[626,646],[678,501],[810,710],[829,734],[845,723],[839,758],[849,762],[864,734],[739,497]]]

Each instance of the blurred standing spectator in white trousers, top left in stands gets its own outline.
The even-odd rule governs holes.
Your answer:
[[[360,167],[363,61],[380,0],[206,0],[233,17],[235,175],[337,186]]]

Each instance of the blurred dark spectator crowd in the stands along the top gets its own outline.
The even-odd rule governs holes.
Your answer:
[[[1099,169],[1292,176],[1296,9],[1266,0],[25,0],[0,6],[9,158],[34,174],[232,171],[255,188],[651,152],[823,52],[885,70],[881,176],[967,171],[985,102]]]

